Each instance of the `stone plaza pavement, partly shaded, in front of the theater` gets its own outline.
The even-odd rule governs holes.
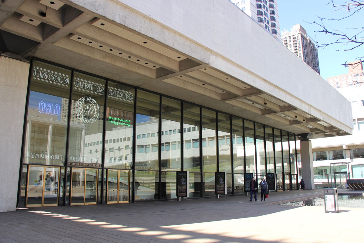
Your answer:
[[[339,193],[363,193],[347,191]],[[129,204],[37,207],[0,213],[1,243],[362,242],[364,208],[276,205],[323,196],[323,189]]]

